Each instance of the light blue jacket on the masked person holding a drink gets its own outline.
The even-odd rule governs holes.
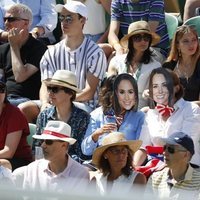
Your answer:
[[[99,107],[91,112],[90,123],[88,125],[85,138],[81,144],[83,154],[88,156],[92,155],[93,151],[98,146],[101,146],[102,139],[107,135],[107,133],[101,135],[97,142],[92,140],[92,133],[103,127],[104,124],[110,122],[110,117],[108,118],[107,115],[104,115],[102,107]],[[117,131],[124,133],[127,140],[137,140],[139,139],[143,122],[143,112],[127,111],[124,116],[124,120]]]

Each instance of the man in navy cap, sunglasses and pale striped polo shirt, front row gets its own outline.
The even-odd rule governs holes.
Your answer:
[[[191,137],[182,132],[163,139],[166,167],[154,172],[147,185],[160,198],[196,199],[200,189],[199,166],[190,163],[194,154]]]

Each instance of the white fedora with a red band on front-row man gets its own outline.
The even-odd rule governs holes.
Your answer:
[[[62,121],[48,121],[41,135],[33,135],[39,140],[61,140],[74,144],[76,139],[71,137],[71,126]]]

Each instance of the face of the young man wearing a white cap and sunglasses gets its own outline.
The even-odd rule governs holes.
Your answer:
[[[69,12],[66,9],[62,10],[59,18],[64,34],[68,36],[82,34],[85,18],[80,17],[77,13]]]

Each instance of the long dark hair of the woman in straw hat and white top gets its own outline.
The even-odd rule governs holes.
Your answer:
[[[128,54],[127,54],[126,60],[125,60],[125,63],[127,66],[131,65],[131,61],[132,61],[133,57],[135,56],[135,52],[136,52],[136,50],[133,47],[133,37],[134,37],[134,35],[128,39]],[[148,64],[150,62],[151,56],[152,56],[152,52],[150,50],[151,42],[152,42],[152,37],[149,41],[148,48],[143,53],[140,63]]]

